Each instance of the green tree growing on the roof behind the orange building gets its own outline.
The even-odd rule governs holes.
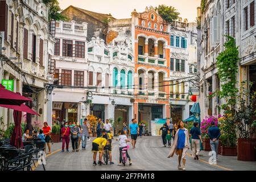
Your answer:
[[[155,10],[158,10],[159,15],[166,20],[167,23],[171,23],[172,21],[179,18],[180,13],[177,12],[175,7],[159,5],[155,7]]]

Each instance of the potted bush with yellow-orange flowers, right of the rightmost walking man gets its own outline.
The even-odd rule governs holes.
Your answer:
[[[237,134],[233,115],[226,113],[218,122],[221,130],[220,155],[237,156]]]

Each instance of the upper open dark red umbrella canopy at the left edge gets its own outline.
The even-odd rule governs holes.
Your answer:
[[[0,84],[0,104],[21,105],[26,101],[32,101],[30,98],[20,96],[20,94],[11,92],[5,89],[5,86]]]

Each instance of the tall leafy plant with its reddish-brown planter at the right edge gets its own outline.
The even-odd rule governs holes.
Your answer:
[[[237,159],[256,161],[256,151],[254,149],[256,138],[253,138],[256,129],[256,92],[247,92],[245,85],[246,82],[242,82],[242,90],[238,97],[238,108],[235,114],[235,123],[239,135]],[[250,83],[250,87],[251,85]]]

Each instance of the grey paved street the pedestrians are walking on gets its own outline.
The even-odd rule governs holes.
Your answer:
[[[129,155],[133,162],[132,166],[117,166],[119,159],[118,141],[113,140],[113,162],[115,164],[108,166],[92,166],[92,138],[88,142],[87,150],[79,152],[61,153],[61,143],[55,143],[52,146],[52,154],[47,157],[47,171],[53,170],[177,170],[177,156],[167,158],[170,148],[162,147],[160,137],[138,138],[136,148],[129,150]],[[70,146],[71,147],[71,146]],[[54,152],[56,151],[56,152]],[[72,149],[71,149],[72,151]],[[188,151],[186,168],[189,171],[223,171],[223,170],[256,170],[256,162],[240,162],[236,156],[218,156],[217,165],[208,164],[208,152],[201,151],[200,160],[194,160],[191,157],[191,151]],[[97,156],[98,159],[98,156]],[[36,171],[42,171],[43,167],[38,166]]]

